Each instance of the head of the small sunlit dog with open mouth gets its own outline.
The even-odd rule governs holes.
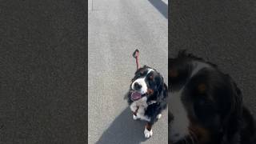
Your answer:
[[[135,72],[134,78],[132,78],[129,99],[131,102],[141,98],[145,98],[147,102],[159,102],[163,91],[166,90],[162,75],[149,66],[143,66]]]

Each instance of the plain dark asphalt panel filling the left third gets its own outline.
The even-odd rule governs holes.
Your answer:
[[[1,1],[1,144],[87,142],[85,7]]]

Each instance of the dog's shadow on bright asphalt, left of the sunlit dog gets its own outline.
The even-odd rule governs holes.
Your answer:
[[[138,144],[146,141],[144,137],[145,122],[134,121],[130,108],[122,111],[111,123],[110,127],[104,131],[96,144]]]

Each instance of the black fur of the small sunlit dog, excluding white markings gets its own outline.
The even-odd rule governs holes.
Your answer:
[[[134,78],[132,78],[131,80],[130,90],[127,94],[127,102],[129,106],[133,102],[136,102],[131,98],[131,94],[134,92],[134,90],[132,89],[132,83],[136,81],[138,78],[145,78],[148,92],[146,94],[143,94],[142,98],[147,98],[146,103],[148,104],[148,106],[145,108],[144,116],[150,118],[150,121],[147,122],[147,125],[149,126],[150,129],[151,126],[153,126],[154,122],[157,121],[158,114],[161,114],[162,110],[166,109],[166,98],[168,96],[168,89],[164,82],[164,79],[162,78],[162,75],[158,73],[157,70],[148,73],[149,69],[154,70],[149,66],[143,66],[135,72]]]

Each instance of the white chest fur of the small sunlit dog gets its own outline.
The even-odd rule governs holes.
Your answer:
[[[130,110],[136,111],[138,109],[137,118],[140,118],[142,120],[145,120],[145,121],[149,122],[150,118],[145,115],[145,110],[148,106],[147,103],[146,103],[146,100],[147,100],[147,98],[144,97],[144,98],[139,99],[138,101],[133,102],[130,105]]]

